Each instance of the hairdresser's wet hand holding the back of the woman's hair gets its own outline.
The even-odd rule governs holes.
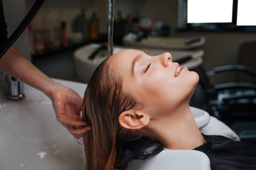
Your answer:
[[[77,92],[59,85],[51,92],[50,98],[57,120],[74,138],[82,138],[82,134],[91,130],[91,127],[81,120],[82,97]]]

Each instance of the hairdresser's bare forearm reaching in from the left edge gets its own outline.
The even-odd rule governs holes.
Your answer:
[[[51,98],[54,89],[61,86],[29,62],[15,46],[0,59],[0,69]]]

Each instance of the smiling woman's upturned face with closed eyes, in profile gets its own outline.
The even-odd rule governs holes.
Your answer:
[[[176,76],[179,64],[172,62],[168,52],[157,56],[127,49],[108,60],[110,69],[123,78],[123,91],[143,104],[143,112],[152,118],[164,116],[189,103],[199,76],[183,68]]]

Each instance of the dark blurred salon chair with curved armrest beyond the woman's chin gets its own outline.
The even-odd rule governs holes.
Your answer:
[[[241,140],[256,142],[256,85],[247,82],[210,85],[208,78],[226,71],[241,71],[254,77],[255,72],[243,65],[225,65],[208,72],[200,65],[194,71],[199,74],[200,81],[190,105],[223,121]]]

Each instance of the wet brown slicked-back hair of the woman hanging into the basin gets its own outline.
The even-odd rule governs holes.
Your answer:
[[[83,135],[87,170],[114,170],[122,160],[123,143],[142,136],[141,130],[128,130],[119,124],[119,115],[138,102],[123,92],[122,77],[110,69],[108,59],[97,67],[84,93],[83,117],[92,126]]]

